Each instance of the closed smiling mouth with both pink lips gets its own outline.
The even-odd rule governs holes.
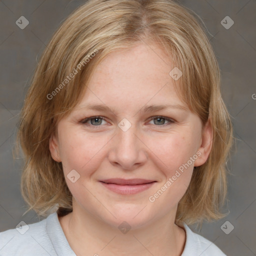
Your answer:
[[[107,189],[119,194],[135,194],[151,187],[157,181],[149,179],[121,179],[112,178],[100,180],[100,183]]]

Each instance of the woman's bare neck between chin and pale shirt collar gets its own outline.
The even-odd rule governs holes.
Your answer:
[[[119,227],[110,225],[79,207],[73,207],[71,213],[59,217],[59,222],[77,256],[128,256],[135,253],[180,256],[185,245],[185,231],[174,223],[171,216],[175,214],[128,230],[122,221],[119,221]]]

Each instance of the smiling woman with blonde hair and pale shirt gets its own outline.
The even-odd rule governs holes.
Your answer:
[[[224,216],[232,126],[185,7],[77,8],[42,54],[18,139],[28,210],[57,211],[1,232],[1,255],[225,255],[188,227]]]

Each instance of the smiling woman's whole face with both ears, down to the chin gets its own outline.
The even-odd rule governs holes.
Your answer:
[[[96,67],[49,143],[62,162],[73,212],[113,226],[175,215],[193,166],[207,159],[211,131],[177,96],[173,67],[160,46],[143,43],[108,54]],[[151,105],[170,106],[146,111]],[[124,180],[106,181],[115,178]]]

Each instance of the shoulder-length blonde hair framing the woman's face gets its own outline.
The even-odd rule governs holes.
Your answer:
[[[210,118],[213,131],[208,159],[194,167],[175,222],[192,224],[225,216],[219,209],[227,190],[232,125],[220,94],[219,68],[196,14],[171,0],[89,0],[54,33],[33,74],[17,134],[25,155],[21,193],[28,210],[42,216],[56,205],[59,215],[72,211],[72,194],[61,162],[51,157],[49,138],[80,99],[99,61],[139,41],[162,46],[173,61],[170,70],[176,66],[182,71],[175,82],[179,96],[203,125]]]

